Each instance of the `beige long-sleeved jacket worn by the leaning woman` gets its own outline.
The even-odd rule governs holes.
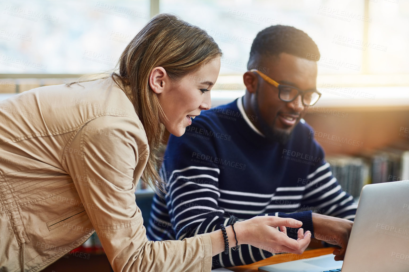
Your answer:
[[[0,102],[0,271],[41,270],[94,231],[114,271],[210,271],[209,234],[146,239],[144,127],[111,79],[81,85]]]

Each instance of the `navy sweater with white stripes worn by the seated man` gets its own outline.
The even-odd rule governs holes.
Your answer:
[[[312,227],[311,212],[353,220],[356,205],[324,160],[304,120],[285,145],[267,140],[250,122],[242,99],[202,111],[181,137],[171,136],[160,169],[167,184],[154,196],[148,239],[184,239],[218,230],[230,215],[291,217]],[[297,237],[296,229],[288,235]],[[213,268],[245,265],[272,256],[242,245],[213,256]]]

